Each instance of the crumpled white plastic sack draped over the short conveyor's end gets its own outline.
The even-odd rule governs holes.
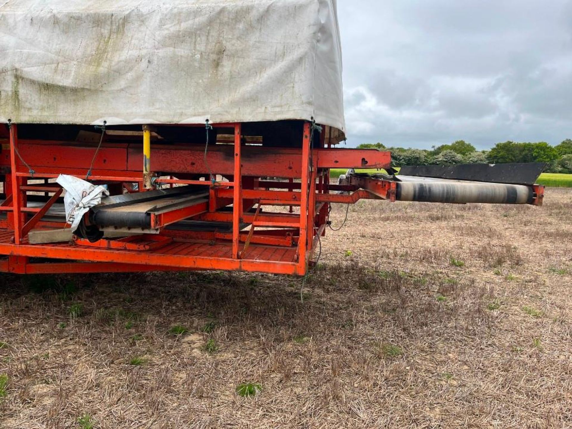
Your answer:
[[[66,191],[63,204],[66,208],[67,223],[72,225],[72,231],[76,231],[90,207],[100,204],[103,195],[109,196],[108,190],[103,186],[96,186],[67,174],[60,174],[56,181]]]

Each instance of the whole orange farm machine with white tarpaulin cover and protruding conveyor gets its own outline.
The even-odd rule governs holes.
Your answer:
[[[333,203],[542,202],[539,165],[336,148],[335,0],[0,3],[0,272],[304,275]]]

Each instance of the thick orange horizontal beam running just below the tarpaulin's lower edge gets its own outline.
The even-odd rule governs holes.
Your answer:
[[[85,177],[96,151],[95,147],[77,142],[20,140],[23,159],[37,172],[37,177],[57,177],[57,173]],[[208,173],[203,145],[153,145],[153,170],[165,173]],[[244,146],[241,170],[243,176],[300,178],[301,148],[264,148]],[[232,176],[234,156],[232,145],[212,145],[207,162],[213,173]],[[390,152],[375,149],[313,149],[317,168],[386,168]],[[90,178],[141,176],[143,153],[138,144],[103,144],[93,164]],[[70,168],[73,165],[73,168]],[[0,167],[10,166],[9,153],[0,152]],[[21,168],[19,160],[17,166]],[[25,169],[19,169],[25,172]],[[115,173],[112,173],[115,172]],[[137,176],[138,174],[138,176]],[[128,181],[125,180],[125,181]]]

